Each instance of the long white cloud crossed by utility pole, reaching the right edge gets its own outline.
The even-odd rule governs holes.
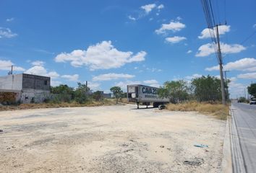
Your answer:
[[[256,71],[255,58],[242,58],[240,60],[229,62],[223,66],[224,70],[237,70],[237,71]],[[206,71],[218,71],[219,66],[205,68]]]

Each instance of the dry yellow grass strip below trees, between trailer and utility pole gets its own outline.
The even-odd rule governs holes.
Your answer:
[[[203,114],[213,115],[220,120],[226,120],[229,116],[229,105],[223,107],[221,103],[185,102],[168,104],[166,108],[172,111],[197,111]]]

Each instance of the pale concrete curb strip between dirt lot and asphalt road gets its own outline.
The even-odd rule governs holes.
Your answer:
[[[232,156],[231,156],[231,111],[226,120],[226,129],[223,141],[223,159],[221,163],[221,172],[231,173],[232,170]]]

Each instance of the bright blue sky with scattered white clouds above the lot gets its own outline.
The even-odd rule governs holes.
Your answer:
[[[213,1],[231,97],[256,82],[256,1]],[[0,75],[51,76],[51,84],[111,86],[219,76],[198,1],[0,2]],[[206,29],[206,30],[205,30]],[[249,37],[252,35],[251,37]],[[249,37],[249,39],[247,39]]]

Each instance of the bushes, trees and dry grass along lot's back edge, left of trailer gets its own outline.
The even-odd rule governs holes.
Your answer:
[[[116,105],[127,103],[126,93],[119,86],[111,88],[114,97],[104,97],[103,92],[92,92],[85,84],[77,83],[77,88],[61,84],[51,86],[51,94],[46,97],[44,102],[35,103],[33,99],[30,103],[20,104],[20,102],[11,102],[10,104],[0,105],[1,110],[25,110],[51,107],[94,107],[101,105]],[[4,99],[4,98],[3,98]]]

